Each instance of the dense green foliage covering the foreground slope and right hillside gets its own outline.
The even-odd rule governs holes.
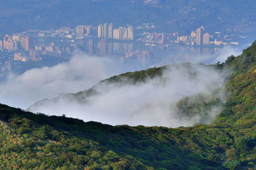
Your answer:
[[[130,127],[33,114],[0,105],[0,168],[8,169],[255,169],[256,43],[216,67],[232,71],[227,103],[215,122],[193,127]],[[136,81],[161,69],[126,73]],[[118,81],[120,77],[105,81]],[[88,94],[93,91],[87,91]],[[192,100],[190,100],[192,99]],[[216,104],[184,98],[184,113]]]

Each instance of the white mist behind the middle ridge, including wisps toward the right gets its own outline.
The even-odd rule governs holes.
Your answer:
[[[195,56],[187,60],[193,64],[216,64],[224,62],[229,55],[239,54],[236,48],[225,46],[214,55]],[[166,53],[168,56],[151,67],[186,62],[183,53]],[[174,58],[174,59],[173,59]],[[28,69],[24,73],[10,71],[6,80],[0,81],[1,103],[26,110],[31,104],[42,99],[52,99],[59,94],[70,94],[90,89],[99,81],[125,72],[140,71],[127,67],[119,60],[110,57],[96,57],[79,50],[72,58],[53,66],[42,66]]]

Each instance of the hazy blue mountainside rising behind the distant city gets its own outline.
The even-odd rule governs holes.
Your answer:
[[[0,2],[0,33],[62,26],[154,23],[159,31],[188,34],[204,25],[223,34],[252,35],[256,2],[216,0],[25,0]]]

